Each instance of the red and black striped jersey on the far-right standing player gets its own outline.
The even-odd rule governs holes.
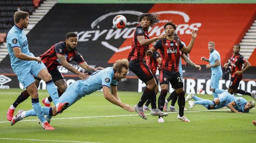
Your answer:
[[[238,55],[235,55],[234,53],[232,54],[232,56],[230,58],[231,77],[242,79],[242,74],[240,74],[240,76],[238,76],[235,72],[241,71],[244,62],[246,62],[246,61],[247,60],[240,53],[238,53]]]

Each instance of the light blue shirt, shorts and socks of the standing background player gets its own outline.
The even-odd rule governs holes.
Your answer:
[[[220,54],[218,51],[215,49],[211,51],[210,57],[209,57],[209,62],[210,65],[215,64],[216,60],[220,60]],[[219,89],[219,81],[220,78],[222,77],[222,70],[221,70],[221,65],[217,67],[211,67],[211,88],[215,89],[215,92],[213,92],[213,97],[218,98],[218,94],[225,92],[225,90]]]

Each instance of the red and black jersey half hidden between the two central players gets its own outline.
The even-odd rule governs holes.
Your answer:
[[[159,58],[160,58],[160,55],[156,51],[152,53],[152,56],[147,56],[147,66],[151,70],[152,74],[156,74],[157,65],[158,65],[157,59]]]

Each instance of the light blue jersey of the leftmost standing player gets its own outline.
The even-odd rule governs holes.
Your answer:
[[[34,55],[30,53],[28,50],[28,40],[24,30],[17,27],[17,25],[14,25],[8,32],[6,42],[12,69],[15,73],[17,73],[22,69],[21,67],[24,67],[26,64],[28,64],[28,62],[31,61],[16,58],[12,48],[19,47],[21,49],[21,53],[24,53],[29,56]]]

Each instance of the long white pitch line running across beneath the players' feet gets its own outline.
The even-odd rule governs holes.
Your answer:
[[[256,109],[256,108],[252,108]],[[184,113],[192,113],[192,112],[211,112],[211,111],[229,111],[230,109],[220,109],[220,110],[204,110],[204,111],[185,111]],[[167,113],[178,113],[178,112],[167,112]],[[105,118],[105,117],[122,117],[122,116],[136,116],[138,114],[130,114],[130,115],[109,115],[109,116],[91,116],[91,117],[71,117],[71,118],[53,118],[51,120],[65,120],[65,119],[83,119],[83,118]],[[150,115],[147,113],[145,115]],[[39,120],[21,120],[19,122],[28,122],[28,121],[39,121]],[[0,121],[0,123],[6,123],[9,121]]]

